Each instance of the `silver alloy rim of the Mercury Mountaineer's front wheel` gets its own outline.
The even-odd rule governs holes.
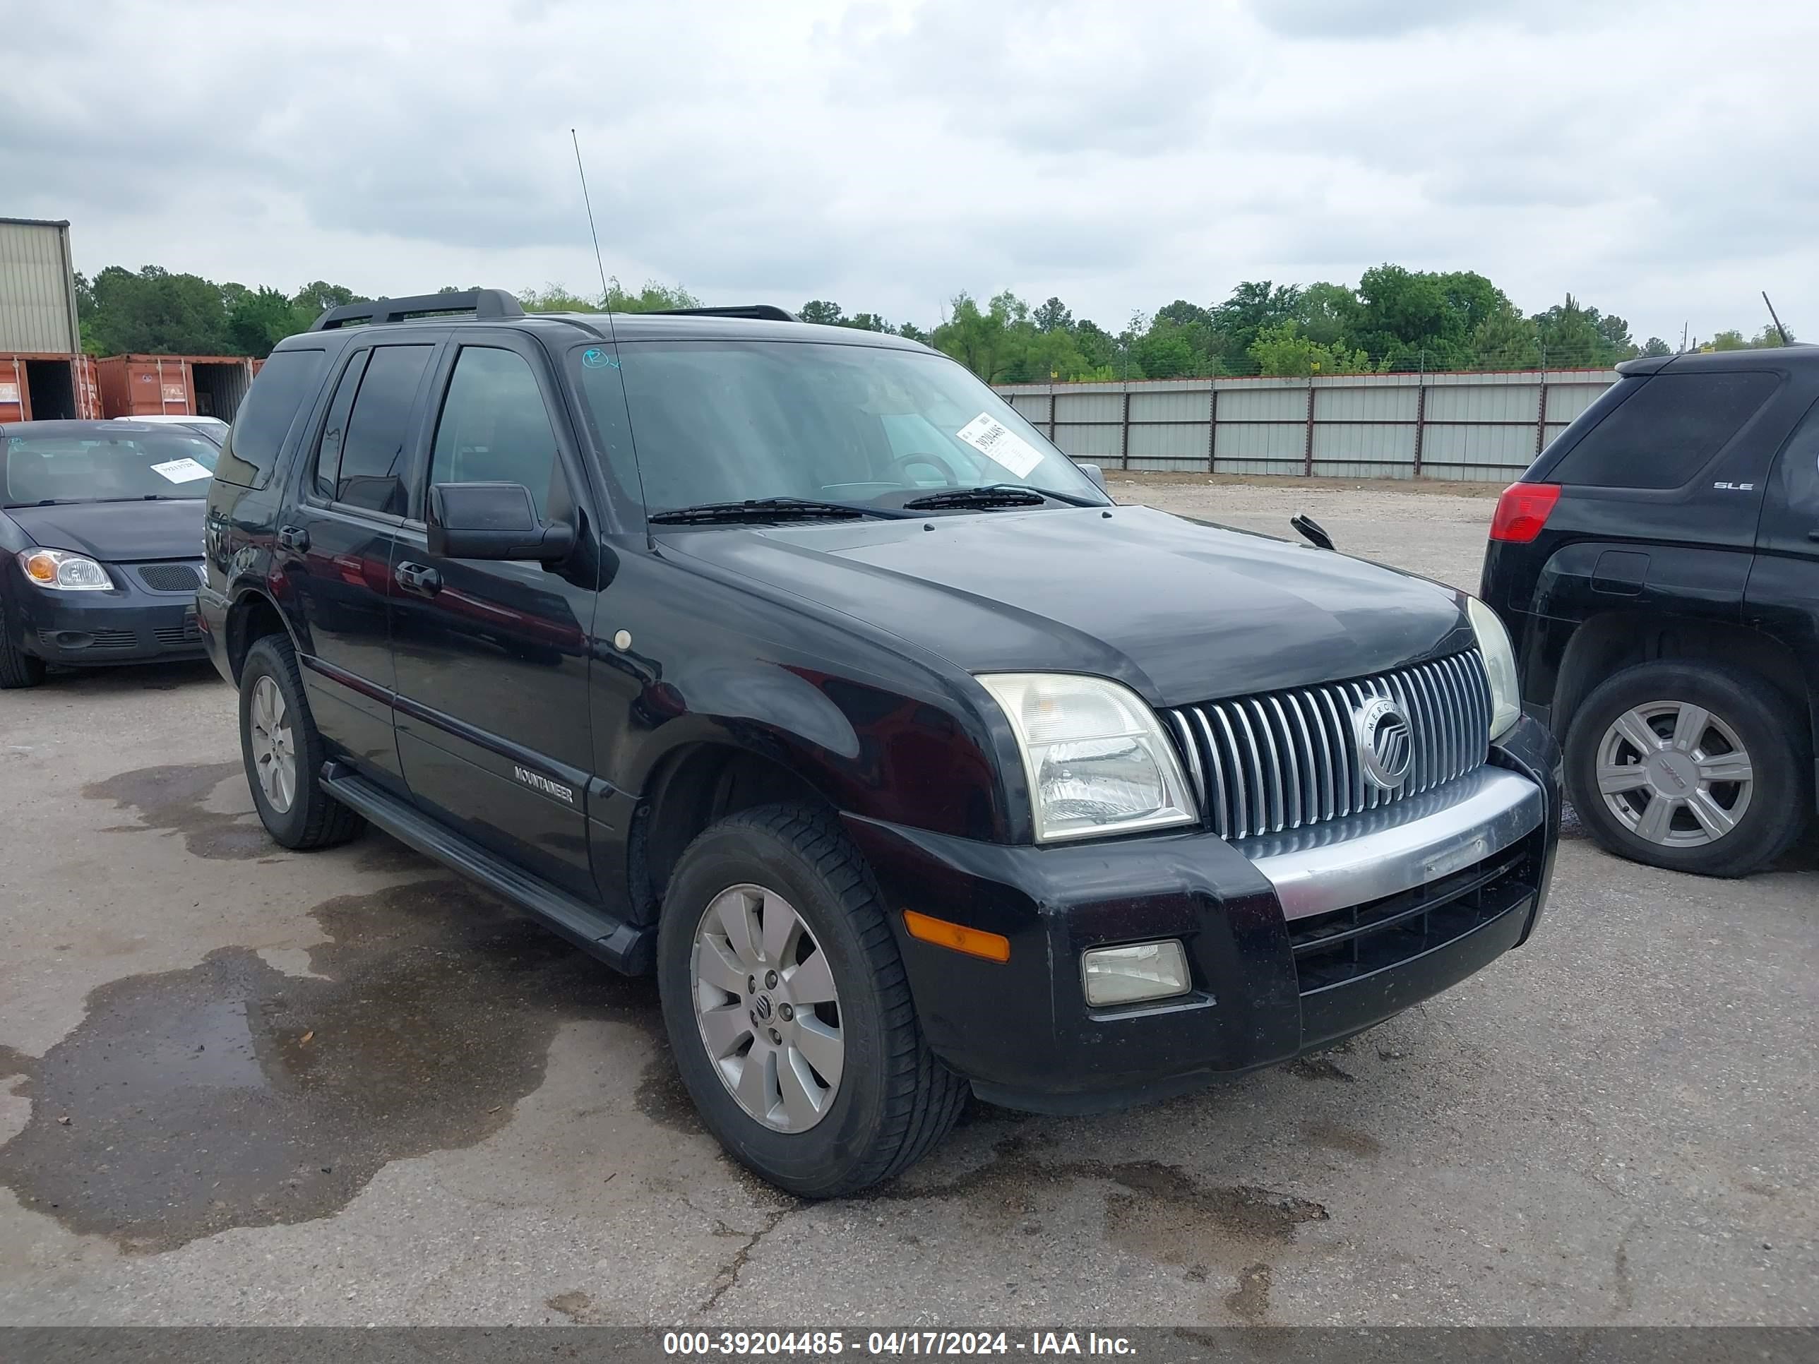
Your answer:
[[[846,1064],[828,955],[777,891],[729,886],[708,902],[689,955],[695,1022],[726,1091],[777,1131],[833,1108]]]

